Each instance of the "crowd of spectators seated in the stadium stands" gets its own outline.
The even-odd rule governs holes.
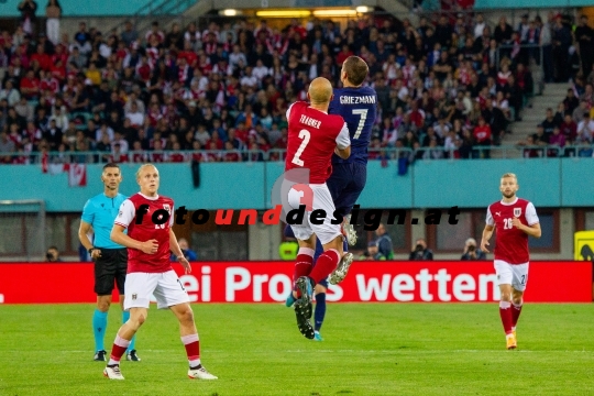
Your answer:
[[[530,69],[541,59],[546,81],[575,81],[574,98],[553,117],[563,144],[592,143],[594,129],[562,127],[578,125],[594,105],[592,61],[578,58],[575,68],[571,52],[594,38],[590,28],[573,34],[552,13],[526,15],[516,28],[505,18],[491,26],[482,14],[463,16],[421,18],[417,26],[366,16],[342,31],[319,20],[283,30],[265,20],[173,24],[168,32],[158,22],[147,32],[128,22],[106,35],[81,22],[59,42],[22,23],[0,34],[0,163],[31,163],[33,153],[52,163],[278,161],[288,105],[305,100],[318,76],[339,86],[351,55],[369,63],[365,84],[380,101],[371,160],[488,157],[481,147],[498,145],[530,106]],[[532,143],[559,144],[553,135],[544,130]],[[394,147],[410,150],[386,150]]]

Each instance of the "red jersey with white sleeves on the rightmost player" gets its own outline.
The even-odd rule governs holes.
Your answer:
[[[524,226],[539,222],[535,206],[526,199],[516,198],[512,204],[492,204],[487,209],[486,223],[495,227],[495,260],[508,264],[524,264],[530,261],[528,234],[512,223],[518,218]]]

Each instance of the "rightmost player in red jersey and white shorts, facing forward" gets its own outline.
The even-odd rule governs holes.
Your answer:
[[[487,209],[486,226],[481,249],[495,235],[495,272],[499,282],[502,299],[499,315],[506,336],[507,349],[517,348],[516,326],[524,304],[522,296],[528,282],[528,237],[540,238],[540,222],[532,202],[518,198],[518,178],[507,173],[502,176],[499,190],[503,199]]]

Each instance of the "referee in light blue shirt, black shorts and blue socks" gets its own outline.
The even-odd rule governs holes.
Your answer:
[[[130,312],[123,310],[124,282],[128,271],[128,250],[110,239],[113,221],[118,216],[120,206],[128,198],[119,194],[122,174],[117,164],[107,164],[101,174],[103,193],[90,198],[82,209],[78,238],[88,250],[95,262],[95,293],[97,294],[97,309],[92,316],[92,331],[95,334],[95,361],[106,362],[103,339],[107,329],[108,310],[111,305],[111,294],[114,283],[120,292],[120,306],[122,307],[122,322],[130,318]],[[95,233],[94,242],[88,234]],[[135,337],[130,342],[127,359],[140,362],[141,359],[134,349]]]

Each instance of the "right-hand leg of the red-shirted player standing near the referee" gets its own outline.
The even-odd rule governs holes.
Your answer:
[[[179,320],[179,336],[188,355],[188,377],[191,380],[217,380],[200,363],[200,339],[194,321],[194,311],[189,304],[178,304],[170,307]]]

